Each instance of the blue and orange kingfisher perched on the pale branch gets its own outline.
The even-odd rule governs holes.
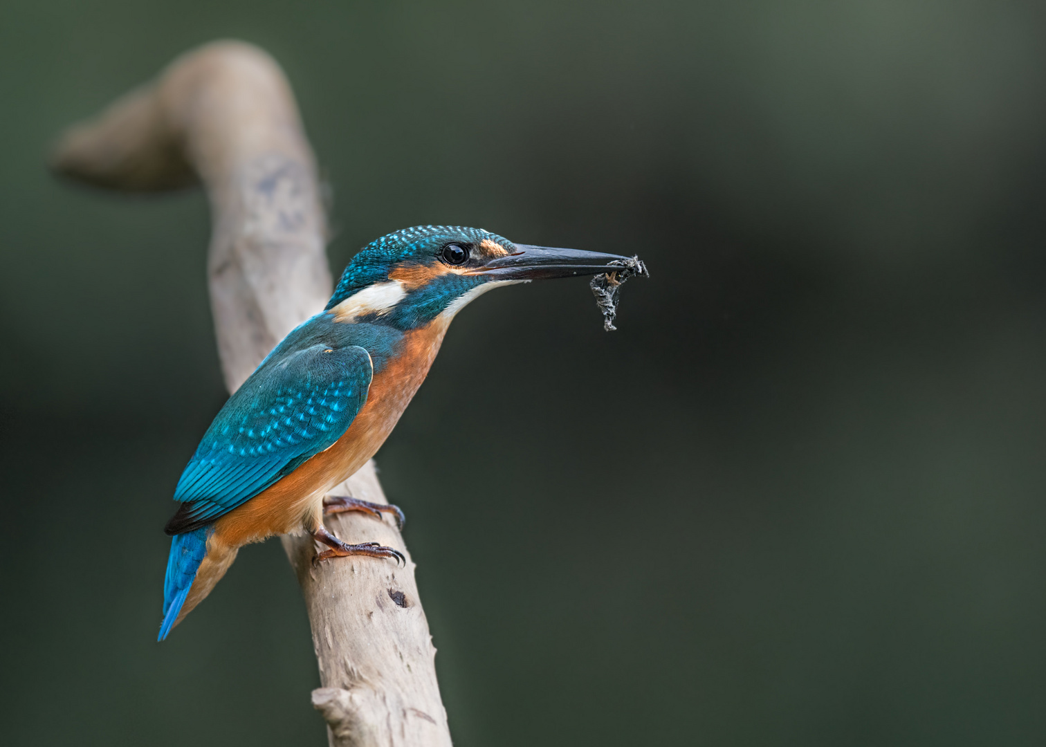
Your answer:
[[[287,335],[226,401],[175,488],[159,640],[214,588],[240,547],[311,535],[316,562],[391,547],[347,544],[324,514],[395,506],[328,492],[379,450],[428,375],[454,316],[483,293],[620,270],[628,257],[514,244],[480,228],[415,226],[363,247],[322,312]]]

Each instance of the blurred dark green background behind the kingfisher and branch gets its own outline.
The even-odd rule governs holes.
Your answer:
[[[424,223],[651,268],[609,335],[485,296],[378,456],[457,745],[1046,742],[1046,8],[999,0],[7,0],[0,741],[324,744],[277,542],[155,642],[205,199],[44,168],[223,37],[294,85],[335,273]]]

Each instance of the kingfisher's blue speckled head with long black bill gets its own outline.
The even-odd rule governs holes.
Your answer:
[[[615,254],[513,244],[481,228],[415,226],[371,242],[353,257],[327,311],[343,322],[412,330],[498,286],[612,272]]]

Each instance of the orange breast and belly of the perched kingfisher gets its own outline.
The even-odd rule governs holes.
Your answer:
[[[449,319],[404,335],[397,355],[370,382],[367,401],[334,446],[214,522],[211,544],[235,548],[273,535],[309,531],[323,520],[323,496],[374,455],[425,381]]]

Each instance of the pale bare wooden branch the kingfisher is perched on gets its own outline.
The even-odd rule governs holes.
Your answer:
[[[213,217],[210,300],[230,392],[331,295],[313,154],[287,80],[256,47],[219,42],[179,58],[66,133],[51,165],[122,190],[203,182]],[[335,493],[387,502],[373,462]],[[435,649],[403,538],[359,513],[328,517],[327,527],[346,542],[380,542],[407,558],[406,568],[369,558],[314,567],[309,537],[282,538],[309,610],[323,685],[313,704],[331,744],[450,745]]]

